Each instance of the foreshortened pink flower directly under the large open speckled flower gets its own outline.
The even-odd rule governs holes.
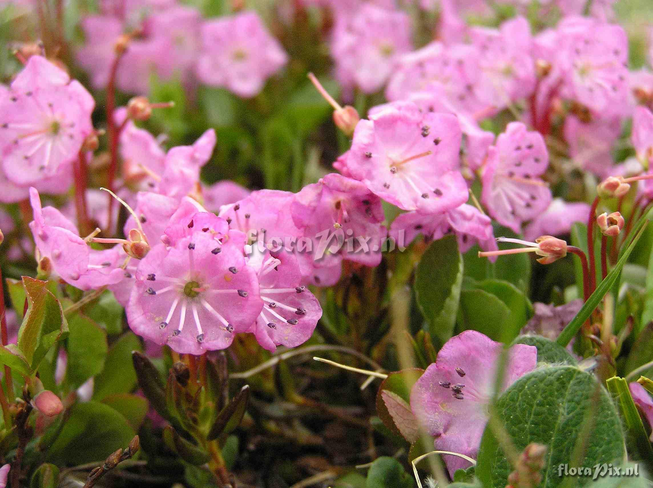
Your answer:
[[[442,213],[402,213],[390,226],[390,236],[405,246],[419,234],[436,241],[452,232],[456,235],[460,252],[469,251],[476,243],[483,251],[498,249],[490,217],[468,204]]]

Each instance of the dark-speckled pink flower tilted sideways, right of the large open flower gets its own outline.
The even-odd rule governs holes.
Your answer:
[[[519,233],[551,201],[551,191],[539,179],[549,165],[549,153],[539,132],[511,122],[490,147],[483,167],[483,204],[500,224]]]

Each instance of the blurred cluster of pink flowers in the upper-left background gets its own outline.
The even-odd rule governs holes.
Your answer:
[[[201,82],[253,97],[287,63],[255,12],[203,20],[197,8],[176,0],[108,0],[82,20],[82,29],[86,45],[77,59],[97,88],[108,83],[116,40],[132,37],[116,73],[116,85],[127,93],[148,93],[155,74],[189,89]]]

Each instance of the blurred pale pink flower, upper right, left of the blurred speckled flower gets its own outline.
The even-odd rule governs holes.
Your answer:
[[[525,18],[508,20],[499,30],[475,27],[470,36],[481,52],[481,78],[476,91],[481,101],[502,108],[532,94],[535,63],[531,56],[530,25]]]

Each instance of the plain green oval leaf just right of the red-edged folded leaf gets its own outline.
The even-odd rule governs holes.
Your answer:
[[[82,314],[69,318],[68,326],[65,381],[74,389],[103,370],[108,345],[106,331]]]

